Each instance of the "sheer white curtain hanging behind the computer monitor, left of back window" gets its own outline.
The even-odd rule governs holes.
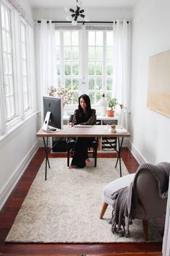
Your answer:
[[[42,96],[47,95],[48,87],[57,87],[57,68],[55,63],[55,25],[41,20],[35,24],[37,97],[42,111]]]

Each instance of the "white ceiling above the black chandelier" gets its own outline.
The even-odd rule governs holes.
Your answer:
[[[33,9],[73,7],[76,0],[27,0]],[[81,0],[84,7],[103,7],[103,8],[133,8],[140,0]]]

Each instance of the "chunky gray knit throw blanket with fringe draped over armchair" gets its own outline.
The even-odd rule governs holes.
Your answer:
[[[158,163],[157,165],[152,165],[150,163],[143,163],[138,167],[136,171],[135,177],[141,171],[147,170],[153,174],[158,180],[159,193],[162,198],[166,198],[168,196],[168,185],[169,185],[169,173],[170,173],[170,163]],[[167,187],[166,191],[162,191],[161,189],[161,179],[162,174],[167,176]],[[132,222],[132,209],[138,202],[138,196],[135,194],[134,182],[130,184],[130,187],[124,187],[122,189],[118,189],[116,192],[112,194],[112,218],[109,223],[112,224],[112,233],[118,234],[120,236],[130,236],[129,225]]]

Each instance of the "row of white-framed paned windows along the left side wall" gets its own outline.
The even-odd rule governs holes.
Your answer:
[[[33,27],[7,1],[0,1],[0,133],[33,110]]]

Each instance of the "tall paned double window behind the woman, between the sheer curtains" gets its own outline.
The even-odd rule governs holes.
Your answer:
[[[108,28],[107,28],[108,29]],[[58,86],[74,92],[72,104],[81,93],[89,94],[95,104],[105,93],[112,98],[113,31],[102,27],[80,27],[79,30],[55,30]],[[80,54],[81,53],[81,54]]]

